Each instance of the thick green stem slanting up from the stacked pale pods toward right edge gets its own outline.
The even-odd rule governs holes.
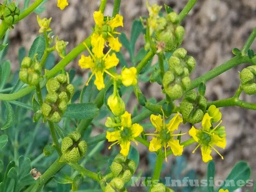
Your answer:
[[[190,87],[188,88],[188,91],[196,88],[201,82],[206,83],[208,80],[211,80],[212,78],[224,73],[225,71],[238,66],[242,63],[250,63],[251,60],[248,56],[234,56],[227,62],[224,62],[220,66],[214,68],[213,70],[210,70],[209,72],[205,73],[204,75],[196,78],[191,82]]]

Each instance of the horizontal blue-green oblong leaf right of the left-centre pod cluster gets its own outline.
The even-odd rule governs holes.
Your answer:
[[[75,119],[91,119],[99,114],[99,109],[94,103],[69,104],[64,117]]]

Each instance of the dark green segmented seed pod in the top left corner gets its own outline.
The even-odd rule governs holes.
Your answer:
[[[9,26],[12,26],[19,20],[20,9],[16,7],[15,2],[8,4],[4,8],[3,19]]]

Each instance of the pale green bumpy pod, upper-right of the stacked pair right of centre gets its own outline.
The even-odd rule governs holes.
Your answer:
[[[187,56],[186,49],[178,48],[170,56],[168,64],[169,68],[175,70],[177,74],[182,74],[187,70],[191,73],[196,66],[196,60],[192,56]]]

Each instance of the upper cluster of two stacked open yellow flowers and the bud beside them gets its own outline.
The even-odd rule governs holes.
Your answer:
[[[116,28],[123,26],[123,17],[116,14],[114,18],[110,19],[107,17],[105,19],[101,11],[95,11],[93,17],[95,27],[90,40],[92,51],[84,44],[90,56],[84,56],[82,54],[78,62],[81,68],[92,71],[86,85],[95,76],[94,84],[98,90],[102,90],[105,88],[104,74],[108,74],[114,81],[120,80],[124,86],[137,84],[136,68],[123,68],[120,75],[112,70],[119,63],[119,59],[112,51],[119,52],[122,46],[118,37],[116,37],[116,35],[120,34],[116,32]],[[109,48],[106,54],[104,54],[105,47]]]

